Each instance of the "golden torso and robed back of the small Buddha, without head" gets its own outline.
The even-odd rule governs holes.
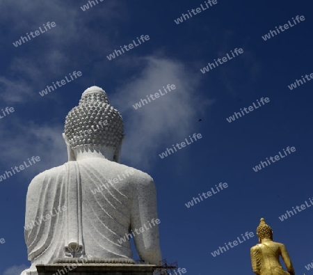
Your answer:
[[[252,247],[250,253],[254,272],[258,271],[260,275],[289,275],[280,265],[279,246],[257,244]]]

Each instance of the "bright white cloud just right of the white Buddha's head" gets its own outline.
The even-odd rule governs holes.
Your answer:
[[[193,134],[199,116],[213,101],[200,97],[198,74],[188,72],[179,61],[150,56],[139,59],[138,65],[142,68],[141,74],[118,88],[115,95],[108,96],[125,119],[127,137],[122,159],[135,166],[148,166],[166,147]],[[162,87],[167,84],[174,84],[176,89],[134,109],[132,105],[160,88],[163,91]],[[209,91],[207,95],[209,97]]]

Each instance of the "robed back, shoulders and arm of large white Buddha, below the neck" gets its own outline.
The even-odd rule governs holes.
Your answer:
[[[133,175],[125,173],[131,170]],[[152,219],[154,182],[134,168],[88,158],[40,173],[27,192],[24,235],[32,265],[22,275],[37,274],[35,265],[55,258],[131,258],[130,242],[118,240]],[[157,225],[135,236],[142,260],[161,260]]]

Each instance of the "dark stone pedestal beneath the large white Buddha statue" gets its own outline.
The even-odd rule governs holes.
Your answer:
[[[152,275],[156,265],[70,264],[36,265],[38,275]]]

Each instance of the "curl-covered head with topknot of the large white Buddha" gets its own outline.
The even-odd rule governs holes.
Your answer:
[[[65,118],[65,136],[72,149],[115,149],[122,141],[124,123],[120,112],[109,104],[106,92],[92,86],[83,92],[79,105]]]

